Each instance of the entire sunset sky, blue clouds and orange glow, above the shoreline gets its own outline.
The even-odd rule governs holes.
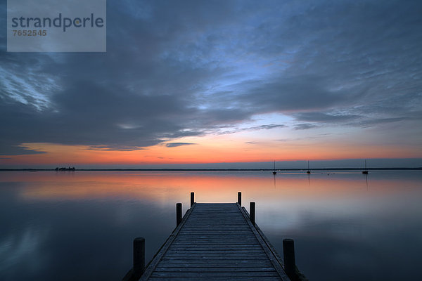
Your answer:
[[[107,2],[106,53],[8,53],[1,0],[0,168],[422,166],[422,1]]]

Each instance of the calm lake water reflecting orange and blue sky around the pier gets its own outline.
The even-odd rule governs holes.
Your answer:
[[[422,276],[422,171],[0,171],[0,280],[121,280],[134,237],[149,261],[191,191],[196,202],[242,191],[279,254],[295,240],[311,281]]]

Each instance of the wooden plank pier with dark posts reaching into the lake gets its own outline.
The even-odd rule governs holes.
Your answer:
[[[295,266],[293,240],[283,240],[284,263],[237,203],[195,203],[181,216],[177,228],[145,268],[145,240],[134,240],[134,267],[123,280],[306,280]],[[290,278],[289,278],[290,277]]]

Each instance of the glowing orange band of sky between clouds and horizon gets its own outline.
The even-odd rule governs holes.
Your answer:
[[[230,162],[269,162],[298,160],[332,160],[357,158],[414,158],[422,157],[410,148],[380,145],[339,145],[333,142],[245,143],[217,136],[206,139],[188,139],[195,143],[167,148],[155,145],[142,150],[94,150],[82,145],[56,145],[51,143],[25,143],[30,150],[44,153],[12,155],[0,159],[5,164],[51,164],[52,166],[81,164],[205,164]]]

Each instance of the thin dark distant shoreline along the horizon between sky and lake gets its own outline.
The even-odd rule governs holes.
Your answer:
[[[315,168],[309,171],[362,171],[363,168]],[[369,171],[383,170],[422,170],[416,168],[369,168]],[[0,169],[0,171],[56,171],[56,169]],[[69,171],[69,170],[67,170]],[[70,171],[274,171],[274,169],[75,169]],[[276,169],[276,171],[307,171],[307,169]],[[65,172],[65,171],[57,171]]]

